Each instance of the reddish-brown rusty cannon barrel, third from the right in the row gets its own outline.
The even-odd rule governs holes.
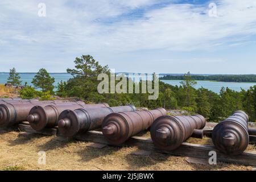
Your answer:
[[[102,123],[102,133],[115,145],[124,143],[130,137],[148,129],[156,118],[166,115],[163,108],[149,111],[112,113]]]

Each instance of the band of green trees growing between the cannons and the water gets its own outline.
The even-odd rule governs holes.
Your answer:
[[[217,122],[228,117],[238,109],[249,114],[250,121],[256,120],[256,84],[249,90],[236,92],[229,88],[222,88],[220,93],[214,93],[205,88],[195,89],[195,76],[189,72],[179,79],[180,86],[172,86],[159,81],[159,97],[156,100],[148,100],[148,93],[98,93],[97,86],[101,82],[97,79],[100,73],[110,74],[108,65],[102,66],[90,55],[76,57],[75,68],[67,69],[67,73],[73,77],[68,81],[60,81],[54,88],[54,78],[46,69],[40,69],[32,80],[34,88],[23,85],[20,91],[22,98],[38,98],[51,100],[52,96],[77,97],[86,102],[107,102],[110,106],[133,104],[137,107],[155,109],[164,107],[170,110],[185,110],[190,114],[198,113],[208,118],[208,121]],[[127,78],[128,79],[128,78]],[[156,79],[156,77],[154,77]],[[12,85],[20,84],[20,77],[15,68],[10,69],[9,82]],[[143,80],[139,83],[140,88]],[[154,86],[154,80],[152,80]]]

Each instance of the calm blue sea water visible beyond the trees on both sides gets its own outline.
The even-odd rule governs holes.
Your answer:
[[[68,74],[50,74],[52,77],[55,78],[54,85],[57,85],[57,82],[60,82],[61,80],[67,81],[69,78],[72,78],[72,75]],[[35,74],[20,74],[20,77],[24,82],[27,82],[28,85],[31,85],[32,78],[34,78]],[[8,73],[0,73],[0,84],[5,84],[7,81],[7,78],[9,77]],[[162,80],[166,84],[170,85],[180,85],[180,81],[182,80]],[[250,86],[256,85],[256,83],[249,83],[249,82],[215,82],[215,81],[197,81],[197,85],[195,88],[201,88],[203,86],[204,88],[207,88],[209,90],[212,90],[213,92],[220,93],[220,89],[222,86],[225,88],[228,87],[232,90],[241,91],[242,89],[249,89]]]

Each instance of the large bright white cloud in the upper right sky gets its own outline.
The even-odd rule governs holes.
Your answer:
[[[256,34],[256,2],[246,2],[223,1],[217,6],[216,18],[201,14],[206,13],[205,7],[170,5],[146,13],[144,19],[118,24],[109,40],[115,48],[133,50],[212,48],[229,43],[232,36]]]

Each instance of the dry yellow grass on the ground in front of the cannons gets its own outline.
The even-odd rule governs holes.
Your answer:
[[[144,133],[142,135],[148,135]],[[209,139],[188,142],[210,144]],[[189,164],[185,157],[152,152],[133,155],[137,147],[89,147],[89,142],[63,140],[38,134],[0,132],[1,170],[251,170],[249,166],[218,163],[216,166]],[[255,150],[255,147],[254,147]],[[38,164],[38,152],[46,151],[46,165]]]

